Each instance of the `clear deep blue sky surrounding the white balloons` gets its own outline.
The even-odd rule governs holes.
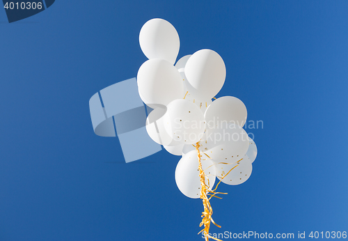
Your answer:
[[[179,57],[221,54],[218,96],[264,123],[248,130],[251,178],[212,201],[211,232],[348,231],[348,1],[61,0],[13,24],[0,10],[0,240],[202,240],[180,157],[125,164],[90,122],[94,93],[136,77],[154,17],[177,29]]]

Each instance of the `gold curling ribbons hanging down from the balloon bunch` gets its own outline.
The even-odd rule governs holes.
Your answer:
[[[234,166],[232,169],[230,169],[230,171],[228,171],[228,173],[226,173],[225,176],[221,177],[221,180],[216,185],[215,189],[209,190],[209,179],[208,179],[208,185],[206,185],[205,184],[205,177],[206,177],[206,175],[205,175],[205,172],[203,171],[202,163],[200,162],[200,157],[201,156],[200,156],[200,150],[199,150],[199,147],[200,147],[199,141],[196,143],[195,147],[196,147],[197,154],[198,154],[198,170],[199,170],[199,176],[200,176],[200,199],[202,199],[203,207],[204,207],[204,211],[202,212],[202,216],[201,216],[202,217],[202,221],[200,222],[200,225],[199,225],[200,227],[204,225],[204,228],[198,234],[203,232],[204,235],[205,235],[205,241],[209,241],[209,238],[212,238],[213,240],[216,240],[216,241],[222,241],[222,240],[219,240],[218,238],[214,238],[211,235],[209,235],[209,228],[210,228],[210,222],[211,221],[212,221],[212,223],[215,226],[221,228],[221,226],[216,224],[214,219],[212,219],[213,209],[212,209],[212,205],[210,205],[209,201],[216,194],[227,194],[227,193],[215,192],[215,191],[216,191],[217,187],[219,186],[221,180],[223,178],[225,178],[228,175],[228,173],[230,173],[230,171],[235,169],[238,166],[238,164],[236,166]],[[209,157],[207,154],[205,154],[205,155],[207,157]],[[209,157],[209,159],[211,159],[211,158]],[[241,160],[243,160],[243,158]],[[239,161],[241,161],[241,160],[239,160]],[[235,162],[235,163],[237,163],[237,162]],[[220,162],[219,164],[230,164],[230,163]],[[209,167],[210,166],[208,166],[207,168],[209,168]],[[210,196],[209,199],[208,199],[207,195]],[[215,197],[218,198],[218,199],[221,199],[221,197],[219,197],[219,196],[215,196]]]

